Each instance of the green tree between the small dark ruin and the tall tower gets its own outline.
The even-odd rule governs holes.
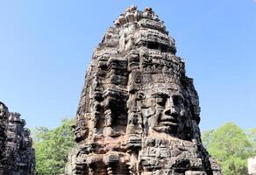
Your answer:
[[[61,125],[53,130],[45,127],[32,130],[38,175],[56,175],[64,172],[68,152],[75,146],[71,128],[73,122],[74,119],[64,119]]]

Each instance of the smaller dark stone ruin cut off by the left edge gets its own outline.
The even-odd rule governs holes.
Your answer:
[[[0,175],[35,174],[35,154],[30,130],[20,114],[0,102]]]

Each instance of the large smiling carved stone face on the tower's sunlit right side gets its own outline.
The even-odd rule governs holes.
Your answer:
[[[156,91],[144,100],[142,115],[149,129],[177,137],[188,117],[185,106],[181,93]]]

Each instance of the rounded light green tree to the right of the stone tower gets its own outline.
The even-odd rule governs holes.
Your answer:
[[[225,123],[213,132],[208,151],[224,175],[246,175],[246,160],[255,153],[245,132],[234,123]]]

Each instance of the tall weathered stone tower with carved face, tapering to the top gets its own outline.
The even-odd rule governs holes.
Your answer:
[[[76,115],[68,175],[219,175],[174,38],[151,8],[124,11],[96,47]]]

